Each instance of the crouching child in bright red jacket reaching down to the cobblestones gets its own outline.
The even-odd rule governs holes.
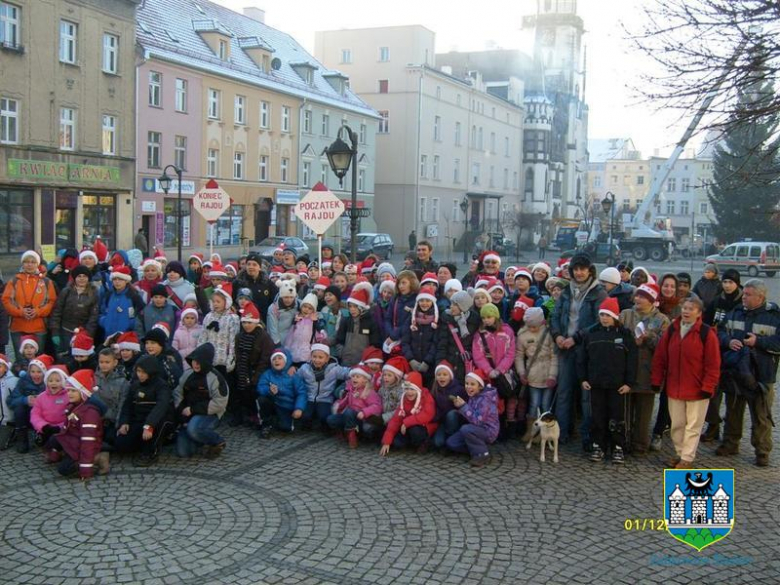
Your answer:
[[[417,452],[428,452],[430,437],[438,426],[434,422],[436,403],[428,389],[423,386],[419,372],[410,372],[404,378],[404,395],[393,418],[387,423],[382,437],[382,457],[390,452],[392,445],[396,449],[412,447]]]

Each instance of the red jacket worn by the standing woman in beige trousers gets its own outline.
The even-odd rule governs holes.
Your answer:
[[[715,329],[710,327],[702,343],[702,320],[680,337],[680,317],[666,329],[653,356],[650,381],[666,386],[666,394],[676,400],[710,398],[720,379],[720,348]]]

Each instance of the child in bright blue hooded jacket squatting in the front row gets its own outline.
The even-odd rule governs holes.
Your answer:
[[[271,354],[271,369],[263,372],[257,382],[260,436],[264,439],[271,436],[274,426],[287,432],[295,430],[293,421],[300,419],[306,409],[306,385],[303,378],[290,374],[290,366],[290,352],[278,348]]]

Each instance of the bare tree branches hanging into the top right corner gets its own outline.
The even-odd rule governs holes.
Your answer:
[[[716,97],[698,132],[727,134],[780,112],[780,95],[744,107],[738,96],[780,71],[777,0],[649,0],[628,39],[652,64],[634,91],[659,109],[690,119],[707,94]]]

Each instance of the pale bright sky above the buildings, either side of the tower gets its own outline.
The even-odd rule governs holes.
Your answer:
[[[534,14],[536,0],[215,0],[236,11],[257,6],[266,23],[295,37],[314,52],[318,30],[421,24],[436,33],[436,50],[479,50],[491,46],[530,52],[521,34],[523,15]],[[649,64],[624,40],[621,21],[636,27],[641,0],[579,0],[588,50],[587,95],[590,138],[630,137],[643,156],[668,152],[684,128],[670,113],[640,103],[626,86],[638,83],[637,71]],[[478,7],[478,10],[475,10]],[[686,120],[687,122],[687,120]],[[698,139],[694,139],[698,142]]]

